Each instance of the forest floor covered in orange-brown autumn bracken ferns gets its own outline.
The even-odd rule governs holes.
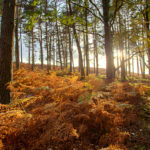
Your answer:
[[[0,104],[0,149],[150,150],[149,79],[25,68],[14,72],[11,103]]]

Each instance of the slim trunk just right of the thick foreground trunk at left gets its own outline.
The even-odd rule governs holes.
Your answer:
[[[17,0],[17,4],[19,1]],[[19,26],[19,6],[16,7],[16,26],[15,26],[15,56],[16,56],[16,69],[20,68],[20,55],[19,55],[19,36],[18,36],[18,26]]]

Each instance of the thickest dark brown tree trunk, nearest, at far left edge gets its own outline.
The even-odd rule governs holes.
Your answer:
[[[0,103],[11,100],[7,83],[12,81],[13,43],[16,0],[3,1],[3,14],[0,37]]]

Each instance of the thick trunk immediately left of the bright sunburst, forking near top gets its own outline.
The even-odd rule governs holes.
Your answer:
[[[103,5],[103,19],[104,19],[104,41],[105,41],[105,53],[106,53],[106,77],[109,80],[115,78],[114,59],[112,50],[112,36],[110,29],[109,18],[109,0],[102,0]]]

